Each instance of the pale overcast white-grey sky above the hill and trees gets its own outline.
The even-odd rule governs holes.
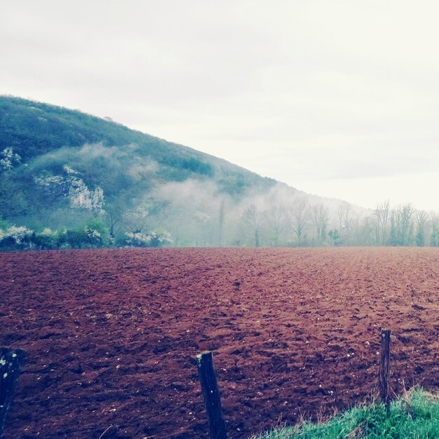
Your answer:
[[[0,0],[0,94],[365,208],[439,210],[439,3]]]

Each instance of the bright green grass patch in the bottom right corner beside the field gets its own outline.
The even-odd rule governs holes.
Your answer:
[[[372,403],[332,417],[324,424],[302,422],[252,439],[439,439],[439,396],[407,391],[386,407]]]

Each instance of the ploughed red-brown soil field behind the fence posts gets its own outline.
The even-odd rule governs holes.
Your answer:
[[[27,351],[5,438],[207,438],[214,353],[231,438],[391,389],[439,389],[439,250],[0,254],[0,346]],[[110,431],[108,433],[110,433]]]

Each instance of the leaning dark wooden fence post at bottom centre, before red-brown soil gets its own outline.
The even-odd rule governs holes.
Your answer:
[[[212,352],[204,351],[196,356],[196,365],[203,391],[205,410],[208,412],[210,438],[227,439],[226,424],[221,408],[221,399],[213,367]]]

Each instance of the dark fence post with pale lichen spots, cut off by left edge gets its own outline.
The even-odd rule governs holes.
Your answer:
[[[22,349],[0,348],[0,436],[24,362],[25,351]]]

